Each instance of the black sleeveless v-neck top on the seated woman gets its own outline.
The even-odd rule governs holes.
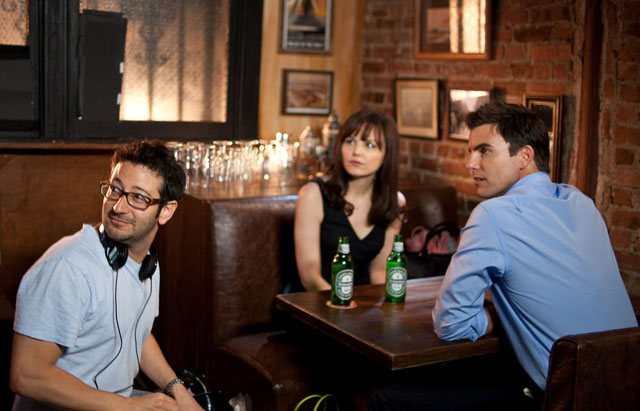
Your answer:
[[[314,179],[320,187],[324,182]],[[322,262],[322,277],[331,284],[331,262],[338,250],[338,237],[349,237],[349,249],[353,258],[354,284],[369,284],[369,266],[384,245],[386,226],[376,224],[362,239],[358,238],[344,210],[329,206],[329,202],[322,189],[322,209],[324,218],[320,224],[320,256]]]

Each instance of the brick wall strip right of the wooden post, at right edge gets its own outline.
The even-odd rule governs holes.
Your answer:
[[[640,294],[640,1],[604,1],[596,204],[620,271]]]

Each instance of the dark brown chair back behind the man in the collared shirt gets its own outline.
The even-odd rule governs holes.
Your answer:
[[[551,349],[544,410],[640,409],[640,328],[569,335]]]

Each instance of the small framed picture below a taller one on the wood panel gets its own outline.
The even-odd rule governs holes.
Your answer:
[[[332,94],[330,71],[282,70],[282,114],[329,115]]]

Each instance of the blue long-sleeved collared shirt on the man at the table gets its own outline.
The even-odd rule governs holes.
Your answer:
[[[433,309],[438,336],[484,335],[487,289],[520,364],[542,389],[556,339],[638,325],[593,201],[546,173],[471,213]]]

